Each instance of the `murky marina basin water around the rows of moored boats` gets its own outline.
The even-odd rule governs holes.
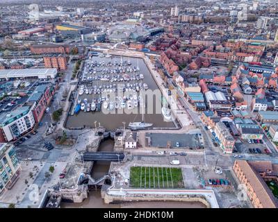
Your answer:
[[[115,60],[120,62],[119,56],[113,56],[112,58],[99,58],[99,57],[92,57],[92,60],[95,61],[111,61],[114,63]],[[158,86],[156,85],[156,82],[154,78],[152,77],[152,74],[150,73],[149,69],[145,65],[145,62],[140,58],[124,58],[123,60],[130,60],[131,61],[131,67],[135,66],[140,67],[140,71],[138,73],[144,75],[144,79],[142,80],[142,83],[147,83],[149,89],[155,90],[158,89]],[[97,67],[96,69],[100,69],[101,67]],[[109,67],[110,68],[110,67]],[[125,73],[126,74],[126,73]],[[129,73],[128,73],[129,74]],[[100,75],[100,74],[98,74]],[[131,83],[131,82],[130,82]],[[101,81],[101,80],[94,80],[93,85],[113,85],[113,83]],[[116,83],[117,84],[117,83]],[[88,87],[90,88],[90,87]],[[127,94],[135,94],[135,92],[128,92]],[[137,94],[137,93],[136,93]],[[122,95],[120,95],[122,96]],[[88,99],[88,102],[91,103],[92,99],[95,98],[95,94],[83,94],[80,96],[81,99]],[[97,96],[99,97],[99,96]],[[174,128],[174,123],[172,121],[163,121],[163,115],[161,114],[161,96],[158,96],[160,98],[157,98],[156,96],[153,97],[153,103],[149,101],[149,105],[152,105],[152,112],[147,113],[147,110],[149,110],[149,105],[146,104],[145,110],[144,110],[144,121],[147,123],[153,123],[154,128]],[[147,99],[145,100],[147,101]],[[158,107],[160,105],[160,107]],[[156,106],[158,108],[156,108]],[[136,113],[127,114],[126,112],[122,114],[105,114],[104,112],[79,112],[79,114],[70,116],[67,119],[66,127],[67,128],[79,128],[83,126],[91,126],[95,127],[95,121],[97,123],[100,123],[101,126],[104,126],[104,128],[108,130],[113,130],[115,128],[118,128],[120,126],[123,126],[123,121],[126,123],[126,126],[128,126],[129,122],[133,121],[142,121],[142,109],[135,108],[134,110],[138,110]]]

